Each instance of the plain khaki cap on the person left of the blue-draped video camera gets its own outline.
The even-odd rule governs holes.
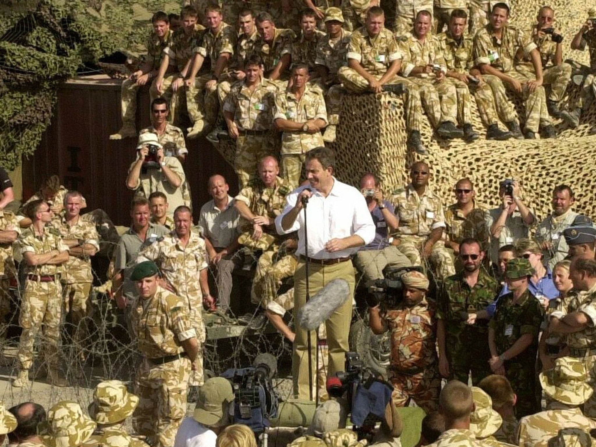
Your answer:
[[[234,401],[234,391],[223,377],[213,377],[198,389],[193,418],[204,426],[216,426],[226,416],[226,403]]]

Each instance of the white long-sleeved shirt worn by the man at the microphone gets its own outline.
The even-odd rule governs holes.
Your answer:
[[[319,191],[313,190],[313,195],[306,206],[308,218],[308,256],[315,259],[334,259],[346,257],[358,252],[358,247],[329,253],[325,244],[333,238],[344,238],[358,235],[364,240],[364,245],[374,239],[375,226],[364,195],[356,188],[346,185],[336,178],[331,192],[324,197]],[[284,230],[281,219],[296,205],[298,195],[309,186],[299,187],[286,197],[286,205],[275,219],[275,228],[279,234],[298,231],[297,254],[305,255],[304,209],[300,210],[294,224]]]

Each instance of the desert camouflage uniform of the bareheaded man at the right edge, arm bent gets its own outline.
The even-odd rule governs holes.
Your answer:
[[[588,383],[592,387],[596,385],[596,287],[587,291],[579,291],[573,294],[567,306],[567,313],[582,312],[588,318],[588,325],[578,332],[567,334],[566,342],[569,347],[569,356],[582,359],[586,365],[589,378]],[[564,310],[552,312],[551,317],[563,318]],[[583,414],[587,417],[596,417],[596,397],[594,395],[583,404]]]

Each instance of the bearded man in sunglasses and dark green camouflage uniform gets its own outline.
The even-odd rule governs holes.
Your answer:
[[[443,377],[476,385],[490,374],[488,321],[479,312],[493,302],[499,284],[482,268],[485,252],[474,239],[460,245],[463,269],[447,278],[438,296],[437,340]],[[485,316],[486,317],[486,316]]]

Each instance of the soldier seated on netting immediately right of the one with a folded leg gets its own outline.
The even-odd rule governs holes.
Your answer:
[[[462,138],[472,141],[478,138],[471,124],[458,129],[457,93],[451,82],[445,82],[445,59],[439,49],[439,41],[431,34],[432,17],[422,10],[416,15],[412,33],[400,39],[399,49],[403,55],[401,74],[420,89],[422,105],[433,128],[440,138]],[[469,123],[468,123],[469,124]]]

